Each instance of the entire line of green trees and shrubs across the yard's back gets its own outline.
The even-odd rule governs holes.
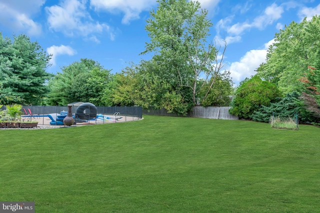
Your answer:
[[[181,115],[196,105],[231,106],[239,118],[267,122],[270,112],[299,113],[304,122],[319,123],[320,18],[291,22],[275,33],[266,62],[256,74],[233,88],[224,69],[227,43],[215,42],[207,10],[198,1],[157,0],[145,30],[150,41],[141,55],[111,73],[83,58],[50,74],[48,55],[26,35],[0,33],[0,103],[165,108]],[[220,57],[222,56],[222,57]],[[231,101],[231,97],[233,97]]]

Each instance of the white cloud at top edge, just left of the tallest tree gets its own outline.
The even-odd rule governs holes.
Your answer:
[[[148,11],[156,5],[156,0],[91,0],[90,5],[96,10],[124,13],[122,23],[127,24],[138,19],[142,11]]]

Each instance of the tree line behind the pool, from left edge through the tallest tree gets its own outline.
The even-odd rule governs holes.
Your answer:
[[[153,53],[153,57],[131,63],[115,74],[99,62],[83,58],[51,75],[45,72],[50,55],[38,43],[25,35],[14,36],[12,40],[0,36],[5,47],[0,58],[0,69],[5,70],[5,75],[0,76],[3,91],[0,102],[66,105],[83,101],[97,106],[165,108],[182,115],[199,103],[229,105],[232,81],[218,58],[226,43],[211,42],[212,23],[200,3],[158,0],[157,9],[150,11],[146,22],[150,42],[141,54]],[[21,46],[16,46],[17,41]],[[16,51],[21,54],[16,55]],[[29,52],[33,55],[28,55]],[[11,57],[6,57],[7,54]],[[30,82],[37,82],[40,87]]]

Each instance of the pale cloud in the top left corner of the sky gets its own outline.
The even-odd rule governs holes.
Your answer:
[[[44,0],[0,0],[0,24],[13,31],[26,32],[27,35],[39,35],[41,25],[34,22],[30,16],[37,12]]]

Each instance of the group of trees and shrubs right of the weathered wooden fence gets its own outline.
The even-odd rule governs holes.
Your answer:
[[[320,123],[320,17],[292,21],[275,33],[266,62],[234,93],[230,113],[268,122],[270,114]]]

